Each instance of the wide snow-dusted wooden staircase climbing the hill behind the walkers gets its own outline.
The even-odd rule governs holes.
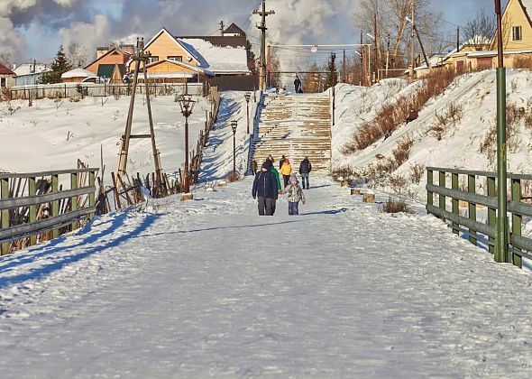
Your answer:
[[[252,157],[259,167],[271,154],[276,168],[285,155],[294,171],[308,157],[312,171],[331,170],[331,112],[329,93],[268,96],[261,109],[259,137]]]

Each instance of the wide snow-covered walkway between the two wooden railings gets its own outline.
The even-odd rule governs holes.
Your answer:
[[[311,184],[299,217],[244,180],[3,258],[1,376],[532,375],[529,274]]]

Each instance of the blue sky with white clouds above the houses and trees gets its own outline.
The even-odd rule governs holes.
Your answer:
[[[23,3],[23,0],[18,1]],[[506,5],[507,1],[502,0],[502,5]],[[17,0],[13,1],[16,2]],[[357,0],[268,0],[267,6],[277,11],[273,17],[282,20],[273,23],[278,30],[274,31],[272,28],[271,32],[277,33],[280,38],[286,36],[292,42],[345,42],[342,40],[346,36],[358,33],[352,21],[356,2]],[[13,11],[8,14],[15,30],[25,40],[25,46],[18,46],[16,55],[19,59],[50,59],[64,38],[79,40],[87,45],[92,54],[97,45],[105,45],[113,39],[134,33],[151,36],[161,26],[177,34],[210,34],[216,32],[217,23],[224,19],[226,23],[235,22],[246,29],[250,25],[249,14],[260,5],[260,0],[71,0],[70,7],[60,6],[60,0],[36,0],[36,3],[33,8],[24,9],[23,12]],[[494,12],[493,0],[432,0],[431,3],[431,7],[449,22],[444,26],[453,32],[455,26],[451,23],[462,25],[482,10],[490,14]],[[327,14],[328,8],[334,8],[334,14]],[[313,13],[313,10],[316,12]],[[98,14],[103,15],[104,20]],[[97,17],[100,17],[100,23],[96,23]],[[316,17],[317,20],[314,21]],[[151,22],[146,23],[144,20]],[[303,26],[295,24],[296,20],[302,20]],[[314,23],[321,23],[317,32],[308,27]],[[251,36],[256,34],[256,29],[252,28]]]

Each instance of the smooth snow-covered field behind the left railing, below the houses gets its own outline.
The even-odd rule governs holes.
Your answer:
[[[150,133],[143,100],[142,96],[136,99],[133,134]],[[0,103],[0,171],[72,169],[76,168],[78,159],[91,167],[100,167],[100,144],[105,176],[116,171],[130,97],[106,97],[104,101],[104,106],[100,98],[94,97],[86,97],[78,103],[34,100],[32,107],[27,101]],[[238,106],[241,106],[239,102],[245,104],[243,94],[235,102]],[[9,106],[15,109],[13,114]],[[175,172],[185,162],[185,119],[173,96],[151,97],[151,108],[162,169]],[[205,128],[206,110],[209,109],[206,98],[197,97],[188,119],[190,151],[196,149],[197,136]],[[133,173],[154,170],[151,140],[131,140],[127,169]]]

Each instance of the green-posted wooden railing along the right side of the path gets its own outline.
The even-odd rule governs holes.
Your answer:
[[[523,197],[522,189],[524,182],[532,181],[532,175],[509,173],[508,180],[511,193],[506,254],[510,258],[508,262],[522,267],[523,257],[532,259],[532,239],[522,236],[523,222],[532,217],[532,205],[526,202],[531,198]],[[493,254],[498,211],[496,172],[428,167],[426,188],[428,213],[449,221],[454,234],[469,236],[473,245],[487,245]],[[465,216],[461,215],[461,208],[466,209]],[[479,216],[482,216],[480,220],[477,219]]]

